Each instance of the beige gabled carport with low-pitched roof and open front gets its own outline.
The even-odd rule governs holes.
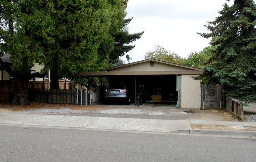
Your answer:
[[[198,68],[147,59],[79,75],[107,77],[109,83],[124,83],[130,92],[131,101],[135,100],[136,92],[143,92],[145,101],[178,101],[180,108],[200,109],[200,81],[195,81],[190,76],[197,76],[202,72]]]

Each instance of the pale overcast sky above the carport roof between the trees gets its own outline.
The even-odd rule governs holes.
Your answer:
[[[132,58],[130,63],[144,60],[156,45],[183,58],[202,51],[210,39],[197,32],[209,33],[203,25],[219,16],[217,12],[224,3],[232,6],[234,0],[129,0],[126,18],[134,17],[128,25],[129,33],[145,31],[141,39],[132,43],[135,48],[126,53]],[[126,55],[123,60],[128,63]]]

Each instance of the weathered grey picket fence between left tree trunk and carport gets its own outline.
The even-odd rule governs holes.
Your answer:
[[[83,89],[28,89],[30,101],[45,103],[70,103],[76,105],[91,105],[92,92]]]

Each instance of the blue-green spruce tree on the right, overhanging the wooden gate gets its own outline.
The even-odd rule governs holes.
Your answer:
[[[206,26],[210,33],[199,33],[215,37],[210,44],[216,50],[196,79],[222,85],[228,97],[256,102],[256,5],[253,0],[234,0],[219,14]]]

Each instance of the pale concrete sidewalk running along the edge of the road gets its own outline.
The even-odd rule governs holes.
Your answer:
[[[48,114],[29,114],[22,112],[0,112],[0,124],[34,125],[50,127],[73,127],[84,129],[104,129],[118,131],[145,131],[160,133],[215,134],[256,136],[256,122],[225,122],[206,120],[160,120],[139,118],[109,118],[92,116],[65,116]],[[234,130],[195,129],[191,126],[215,125],[229,126]],[[238,128],[236,128],[238,127]],[[244,131],[241,127],[250,128]]]

